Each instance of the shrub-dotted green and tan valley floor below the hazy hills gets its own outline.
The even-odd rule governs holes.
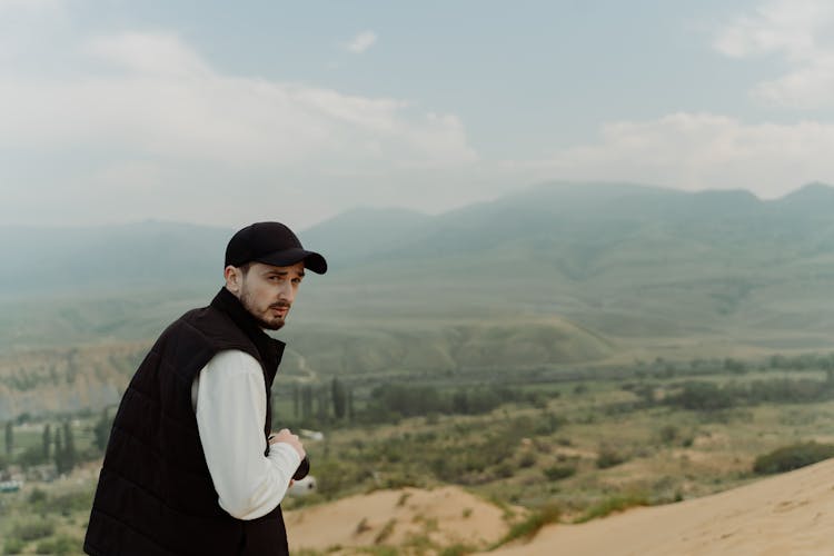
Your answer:
[[[275,390],[275,426],[325,434],[322,441],[306,440],[318,494],[287,500],[285,507],[378,488],[454,484],[533,514],[558,507],[559,519],[576,522],[629,505],[703,496],[754,480],[755,458],[778,447],[834,443],[832,369],[834,356],[807,355],[656,359],[574,371],[490,371],[488,378],[483,370],[358,375],[346,378],[356,414],[340,419],[330,406],[329,379],[282,377]],[[395,408],[408,411],[415,400],[380,405],[379,388],[396,384],[406,385],[401,393],[414,393],[423,404],[414,410],[424,415],[397,414]],[[314,396],[309,413],[294,400],[296,389],[305,387]],[[484,410],[455,401],[460,393],[469,404],[488,400],[490,391],[504,393],[503,398]],[[319,405],[322,393],[325,406]],[[425,398],[439,405],[426,406]],[[52,544],[78,549],[100,457],[95,438],[100,419],[81,413],[17,423],[11,460],[41,447],[47,423],[54,430],[68,421],[81,461],[88,463],[69,478],[31,479],[22,492],[0,495],[0,538],[7,546],[24,553]],[[509,513],[507,519],[522,516]]]

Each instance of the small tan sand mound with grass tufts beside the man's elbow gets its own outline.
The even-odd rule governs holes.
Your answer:
[[[503,510],[458,487],[377,490],[285,514],[292,550],[403,545],[486,547],[507,532]]]

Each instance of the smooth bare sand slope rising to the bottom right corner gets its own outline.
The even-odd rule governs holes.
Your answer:
[[[834,460],[734,490],[552,525],[509,555],[834,555]]]

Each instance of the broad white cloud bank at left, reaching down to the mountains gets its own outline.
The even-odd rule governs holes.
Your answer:
[[[64,49],[70,75],[0,71],[2,220],[242,222],[281,199],[309,224],[374,197],[443,203],[445,183],[413,177],[478,160],[454,115],[226,75],[176,34]]]

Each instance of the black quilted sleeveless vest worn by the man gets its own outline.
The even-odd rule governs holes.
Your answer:
[[[191,383],[215,354],[240,349],[269,391],[284,344],[267,336],[225,288],[166,329],[125,391],[110,431],[85,550],[96,556],[288,554],[280,506],[240,520],[218,505],[191,406]]]

